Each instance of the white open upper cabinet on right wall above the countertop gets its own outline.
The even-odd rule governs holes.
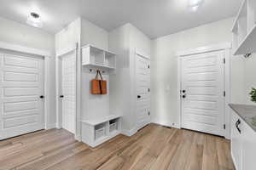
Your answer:
[[[256,52],[256,1],[243,0],[232,27],[234,54]]]

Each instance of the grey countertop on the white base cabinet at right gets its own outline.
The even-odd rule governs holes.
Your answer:
[[[230,104],[230,107],[256,132],[256,105]]]

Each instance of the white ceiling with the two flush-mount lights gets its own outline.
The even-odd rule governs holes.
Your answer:
[[[188,0],[1,0],[0,16],[26,23],[34,11],[44,21],[44,31],[55,33],[77,17],[107,31],[127,22],[150,38],[235,16],[241,0],[205,0],[201,8],[188,9]]]

